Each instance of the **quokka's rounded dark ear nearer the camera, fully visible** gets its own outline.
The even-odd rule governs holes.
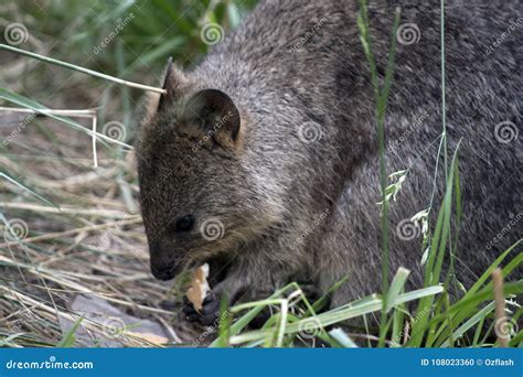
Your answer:
[[[226,147],[236,141],[241,118],[230,96],[218,89],[204,89],[189,99],[181,121],[198,127],[210,139]]]

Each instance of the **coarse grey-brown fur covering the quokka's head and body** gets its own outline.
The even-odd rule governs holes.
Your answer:
[[[420,237],[402,240],[395,229],[427,208],[433,194],[441,132],[439,1],[371,1],[380,77],[398,4],[402,23],[416,23],[420,37],[398,44],[386,116],[387,171],[409,169],[391,203],[391,263],[393,272],[412,270],[410,286],[419,288]],[[466,287],[523,234],[523,24],[489,50],[521,11],[519,0],[447,2],[450,155],[462,138],[456,267]],[[262,1],[195,69],[167,73],[169,95],[147,118],[138,149],[157,276],[171,278],[180,267],[210,261],[211,273],[224,272],[215,292],[233,300],[259,298],[293,280],[324,291],[344,276],[333,305],[380,291],[374,101],[356,12],[356,1]],[[198,121],[182,121],[189,99],[207,88],[227,94],[239,111],[236,140],[227,127],[209,133]],[[515,125],[520,138],[499,142],[494,128],[501,121]],[[303,125],[319,127],[320,137],[307,140]],[[442,181],[439,174],[433,226]],[[195,216],[195,228],[173,231],[184,214]],[[222,238],[202,238],[199,229],[209,218],[223,224]],[[495,238],[508,224],[510,231]]]

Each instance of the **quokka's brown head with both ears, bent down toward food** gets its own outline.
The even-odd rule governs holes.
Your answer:
[[[270,218],[264,183],[246,162],[248,115],[226,94],[169,63],[137,148],[151,271],[181,270],[238,251]],[[262,192],[260,192],[262,191]]]

